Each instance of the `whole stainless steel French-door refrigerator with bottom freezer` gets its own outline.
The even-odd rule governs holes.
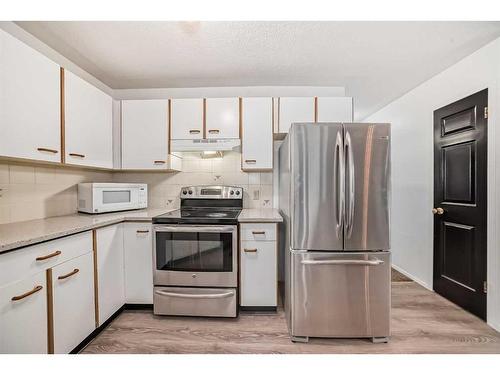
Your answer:
[[[390,335],[390,124],[293,124],[279,149],[293,341]]]

